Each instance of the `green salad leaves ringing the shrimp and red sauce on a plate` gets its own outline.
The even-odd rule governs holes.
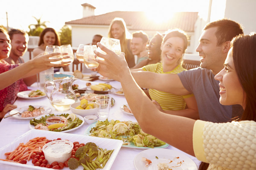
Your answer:
[[[64,116],[64,117],[68,117],[69,114],[68,113],[63,113],[63,114],[60,114],[60,115],[54,115],[54,114],[49,114],[49,115],[46,115],[44,117],[42,117],[41,119],[31,119],[30,120],[30,125],[34,125],[34,126],[37,126],[39,124],[42,124],[43,126],[46,126],[46,119],[50,116]],[[80,120],[78,117],[75,118],[74,121],[72,121],[71,118],[67,119],[67,125],[66,126],[63,126],[62,128],[56,128],[56,129],[48,129],[49,131],[66,131],[66,130],[69,130],[69,129],[72,129],[72,128],[75,128],[75,127],[78,127],[79,125],[82,124],[82,120]],[[43,129],[44,130],[44,129]]]

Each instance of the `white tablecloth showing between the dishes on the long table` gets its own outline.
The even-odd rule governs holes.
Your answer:
[[[105,83],[106,81],[96,80],[94,82]],[[74,84],[78,84],[78,88],[86,87],[85,81],[80,80],[80,79],[75,80]],[[120,82],[109,81],[109,84],[115,88],[121,88]],[[36,83],[34,83],[33,85],[31,85],[31,87],[28,87],[28,88],[31,90],[40,89],[43,91],[43,88],[37,87]],[[120,120],[120,121],[130,120],[130,121],[136,122],[136,119],[133,115],[123,113],[120,110],[120,107],[123,104],[127,104],[125,96],[117,95],[114,93],[109,93],[109,95],[114,98],[115,103],[110,108],[110,114],[108,116],[108,120],[111,120],[111,119]],[[54,109],[54,107],[50,104],[49,99],[47,97],[38,98],[38,99],[34,99],[34,100],[23,99],[23,98],[18,97],[18,99],[15,101],[14,104],[17,105],[18,107],[28,106],[28,105],[32,105],[32,106],[33,105],[42,105],[42,106],[47,106],[47,107],[52,108],[51,113],[69,113],[69,114],[72,113],[71,110],[67,110],[64,112],[56,111]],[[7,113],[5,116],[7,116],[7,115],[9,115],[9,113]],[[30,130],[29,121],[30,121],[29,119],[15,119],[13,117],[2,119],[2,121],[0,122],[0,130],[1,130],[0,148],[5,147],[5,145],[11,143],[15,138],[18,138],[20,135],[29,131]],[[89,125],[85,122],[82,125],[82,127],[75,129],[73,131],[67,132],[67,133],[83,135],[86,128],[88,128],[88,126]],[[59,132],[59,133],[62,133],[62,132]],[[181,151],[171,145],[166,147],[166,149],[175,150],[175,151],[178,151],[178,152],[188,156],[190,159],[192,159],[197,164],[197,166],[199,166],[199,164],[200,164],[200,161],[197,158],[195,158],[194,156],[184,153],[183,151]],[[120,170],[120,169],[135,170],[135,167],[133,164],[134,158],[138,153],[142,152],[143,150],[145,150],[145,149],[121,147],[121,149],[118,152],[118,155],[117,155],[116,159],[114,160],[114,163],[110,169],[111,170]],[[2,164],[1,162],[2,161],[0,161],[0,164],[1,164],[0,170],[4,170],[4,169],[17,170],[17,168],[19,170],[27,169],[27,168],[23,168],[23,167]]]

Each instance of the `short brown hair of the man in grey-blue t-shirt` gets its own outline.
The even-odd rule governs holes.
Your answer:
[[[211,23],[207,23],[203,30],[218,27],[215,35],[217,37],[217,46],[221,45],[223,42],[231,41],[235,36],[243,34],[242,26],[232,20],[221,19]]]

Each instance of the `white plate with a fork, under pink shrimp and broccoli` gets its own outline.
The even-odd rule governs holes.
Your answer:
[[[34,106],[35,108],[39,108],[39,107],[43,107],[43,109],[44,109],[44,111],[43,111],[43,113],[40,115],[40,116],[43,116],[43,115],[45,115],[45,114],[49,114],[49,113],[51,113],[51,111],[52,111],[52,109],[50,108],[50,107],[47,107],[47,106]],[[11,110],[10,112],[9,112],[9,115],[11,115],[11,114],[14,114],[14,113],[17,113],[17,112],[24,112],[24,111],[27,111],[27,109],[28,109],[28,106],[24,106],[24,107],[17,107],[16,109],[14,109],[14,110]],[[36,118],[36,117],[38,117],[38,116],[34,116],[34,117],[21,117],[21,114],[16,114],[16,115],[13,115],[12,116],[13,118],[15,118],[15,119],[33,119],[33,118]]]

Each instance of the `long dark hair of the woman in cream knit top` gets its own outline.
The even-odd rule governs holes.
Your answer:
[[[231,47],[235,71],[246,94],[241,120],[256,121],[256,33],[236,36],[231,41]]]

